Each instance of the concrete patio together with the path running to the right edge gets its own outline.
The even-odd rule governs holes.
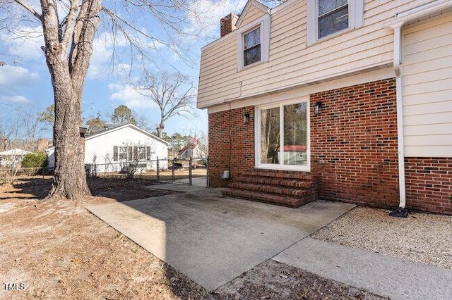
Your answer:
[[[391,299],[452,299],[451,270],[308,237],[353,207],[284,208],[199,189],[87,208],[208,290],[271,258]]]

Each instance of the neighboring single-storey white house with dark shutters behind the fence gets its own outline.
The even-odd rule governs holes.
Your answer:
[[[54,168],[54,147],[47,149]],[[168,143],[132,124],[112,127],[85,137],[85,165],[97,173],[116,172],[138,163],[139,170],[168,168]]]

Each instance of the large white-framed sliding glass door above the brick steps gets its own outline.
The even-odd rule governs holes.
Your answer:
[[[256,167],[309,170],[309,102],[257,108]]]

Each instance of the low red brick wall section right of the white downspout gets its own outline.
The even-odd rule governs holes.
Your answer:
[[[407,208],[452,215],[452,158],[405,158]]]

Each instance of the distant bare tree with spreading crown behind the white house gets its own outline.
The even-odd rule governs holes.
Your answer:
[[[157,136],[163,137],[165,123],[174,115],[194,115],[194,84],[189,77],[181,73],[145,72],[136,86],[140,94],[146,96],[160,109],[160,123]]]

